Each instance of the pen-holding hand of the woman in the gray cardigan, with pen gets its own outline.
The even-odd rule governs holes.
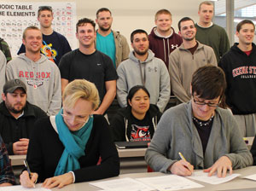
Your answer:
[[[190,163],[183,157],[182,153],[178,153],[181,160],[178,160],[177,162],[173,163],[171,167],[169,167],[169,170],[172,172],[172,174],[180,175],[180,176],[190,176],[192,172],[194,171],[194,166],[190,165]]]

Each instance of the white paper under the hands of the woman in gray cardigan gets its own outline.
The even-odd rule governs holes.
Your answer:
[[[208,177],[208,172],[195,171],[189,178],[196,181],[207,182],[210,184],[219,184],[219,183],[229,182],[230,180],[233,180],[234,178],[239,176],[240,174],[230,175],[229,172],[227,172],[226,177],[217,177],[217,173],[212,175],[212,177]]]

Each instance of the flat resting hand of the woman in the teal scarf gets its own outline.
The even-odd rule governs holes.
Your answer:
[[[71,172],[67,172],[63,175],[57,177],[49,177],[45,179],[43,183],[44,188],[62,188],[68,184],[73,183],[73,174]]]

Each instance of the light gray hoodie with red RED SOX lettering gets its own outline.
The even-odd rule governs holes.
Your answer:
[[[34,62],[20,54],[6,67],[7,80],[20,78],[26,84],[27,101],[40,107],[48,115],[61,109],[61,74],[54,62],[44,55]]]

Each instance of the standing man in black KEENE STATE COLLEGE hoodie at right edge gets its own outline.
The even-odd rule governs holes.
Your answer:
[[[218,65],[226,76],[226,103],[239,124],[242,136],[256,133],[256,46],[252,20],[242,20],[236,26],[235,43]]]

